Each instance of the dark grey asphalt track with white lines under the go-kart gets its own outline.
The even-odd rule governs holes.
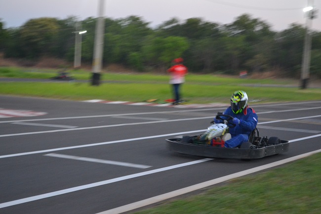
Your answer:
[[[0,96],[0,214],[131,213],[321,151],[321,101],[251,107],[260,135],[289,140],[288,152],[243,162],[167,150],[165,138],[203,132],[225,107]]]

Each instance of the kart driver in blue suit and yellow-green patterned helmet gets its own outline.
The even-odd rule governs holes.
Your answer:
[[[237,147],[247,142],[249,135],[256,128],[258,119],[255,111],[248,107],[248,98],[244,91],[238,90],[232,94],[231,106],[224,111],[223,115],[232,116],[233,124],[236,125],[229,128],[232,138],[225,141],[224,147]],[[222,118],[225,119],[224,116]],[[223,123],[223,121],[214,118],[214,123]]]

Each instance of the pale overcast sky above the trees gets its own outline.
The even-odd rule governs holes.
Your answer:
[[[316,8],[321,0],[311,0]],[[40,17],[80,20],[98,16],[99,0],[0,0],[0,19],[4,28],[20,27],[28,20]],[[130,15],[142,17],[155,27],[173,17],[184,21],[200,17],[218,24],[232,23],[248,13],[271,26],[272,30],[287,29],[290,24],[305,24],[302,8],[308,0],[105,0],[104,16],[112,19]],[[321,10],[312,28],[321,31]]]

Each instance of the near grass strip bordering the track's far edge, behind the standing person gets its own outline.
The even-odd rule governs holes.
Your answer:
[[[181,88],[184,99],[192,103],[229,103],[235,90],[245,90],[249,99],[259,99],[261,103],[318,100],[321,88],[301,90],[297,87],[266,87],[230,85],[198,85],[187,82]],[[71,100],[104,99],[140,102],[147,99],[165,100],[171,98],[171,87],[167,83],[103,83],[91,86],[90,83],[53,82],[25,83],[2,82],[0,93],[7,95],[39,96]]]

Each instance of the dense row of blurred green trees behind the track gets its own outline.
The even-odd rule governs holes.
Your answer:
[[[81,21],[82,62],[91,63],[96,18]],[[0,52],[4,57],[38,59],[41,56],[74,60],[76,17],[37,18],[19,28],[4,28],[0,20]],[[103,63],[121,64],[137,71],[163,71],[171,60],[183,57],[190,71],[238,74],[240,71],[278,71],[300,76],[305,27],[291,24],[275,32],[266,22],[242,14],[220,25],[202,18],[172,18],[151,28],[138,16],[105,18]],[[321,77],[321,32],[312,32],[310,73]]]

